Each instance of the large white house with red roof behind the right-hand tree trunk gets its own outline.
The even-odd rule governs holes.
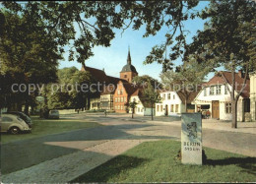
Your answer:
[[[222,73],[224,77],[222,77]],[[235,95],[242,88],[242,72],[235,73]],[[198,93],[192,101],[195,104],[195,110],[209,110],[211,117],[221,120],[231,120],[231,98],[227,87],[231,90],[232,75],[230,72],[219,72],[205,87]],[[227,82],[227,83],[226,83]],[[237,102],[237,120],[244,121],[245,112],[249,112],[249,86],[250,80],[247,80],[246,87],[241,93]]]

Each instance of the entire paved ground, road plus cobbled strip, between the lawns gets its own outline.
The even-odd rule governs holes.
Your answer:
[[[2,145],[3,182],[68,182],[142,142],[180,140],[178,117],[150,121],[150,117],[131,119],[127,114],[104,117],[102,113],[81,113],[63,118],[86,119],[104,126]],[[209,125],[204,127],[203,122],[203,146],[256,156],[255,134],[227,130],[228,123],[205,124]],[[255,130],[254,123],[249,125],[248,130]]]

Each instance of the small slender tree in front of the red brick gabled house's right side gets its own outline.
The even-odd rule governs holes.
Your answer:
[[[155,88],[151,85],[151,83],[148,84],[148,87],[144,90],[143,100],[146,100],[151,103],[151,119],[154,118],[154,106],[156,103],[159,103],[161,101],[160,93],[155,90]]]

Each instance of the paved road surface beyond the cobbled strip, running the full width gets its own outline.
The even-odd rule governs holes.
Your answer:
[[[108,141],[125,141],[122,142],[125,144],[121,147],[127,146],[129,149],[129,140],[180,140],[180,123],[177,121],[151,123],[140,118],[131,121],[125,115],[103,117],[97,114],[90,116],[79,114],[69,116],[69,118],[88,119],[105,126],[4,144],[1,147],[2,174],[22,170],[53,158],[72,155],[72,153],[103,145]],[[253,134],[203,130],[203,146],[205,147],[256,156],[255,143],[256,135]],[[109,145],[106,144],[105,147]]]

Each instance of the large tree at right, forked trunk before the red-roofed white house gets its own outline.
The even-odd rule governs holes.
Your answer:
[[[255,70],[256,3],[254,1],[211,1],[210,8],[201,13],[209,19],[204,31],[198,31],[187,54],[197,53],[200,62],[214,62],[232,73],[230,93],[232,128],[237,128],[237,101],[243,92],[248,71]],[[245,77],[240,91],[235,91],[235,71],[243,68]],[[237,93],[235,95],[235,92]]]

